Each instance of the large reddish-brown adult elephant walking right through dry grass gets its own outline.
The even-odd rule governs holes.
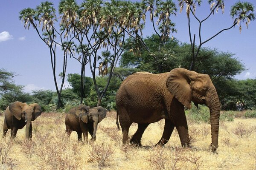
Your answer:
[[[116,94],[117,118],[122,127],[122,141],[128,142],[129,127],[138,123],[131,143],[140,144],[141,137],[150,123],[165,120],[163,136],[157,144],[166,144],[174,127],[182,146],[189,146],[189,133],[184,106],[191,108],[191,101],[205,104],[210,110],[212,150],[218,148],[220,102],[207,74],[198,74],[184,68],[168,73],[138,72],[128,76]],[[118,120],[116,120],[118,121]],[[118,125],[118,122],[117,122]]]

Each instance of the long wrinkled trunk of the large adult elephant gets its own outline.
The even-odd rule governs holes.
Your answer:
[[[220,120],[220,101],[218,99],[218,94],[214,89],[210,93],[208,98],[208,107],[210,110],[210,123],[211,123],[211,132],[212,132],[212,143],[210,145],[212,151],[217,150],[218,148],[218,131],[219,131],[219,120]]]

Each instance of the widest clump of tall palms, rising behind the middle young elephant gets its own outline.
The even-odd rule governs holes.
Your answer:
[[[78,43],[77,52],[80,55],[73,56],[73,58],[81,63],[81,92],[84,87],[83,71],[88,63],[98,97],[97,105],[100,105],[117,61],[126,47],[125,31],[138,29],[142,10],[135,3],[119,0],[110,2],[87,0],[81,3],[78,10],[74,4],[76,4],[75,0],[61,0],[59,5],[62,15],[61,24],[67,28],[67,34],[75,35]],[[103,90],[99,89],[96,81],[97,69],[99,69],[99,75],[108,74]]]

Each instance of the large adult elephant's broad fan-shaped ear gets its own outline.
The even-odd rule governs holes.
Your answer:
[[[166,80],[168,91],[187,108],[191,108],[192,90],[190,82],[195,74],[195,71],[175,68],[170,71],[169,77]]]

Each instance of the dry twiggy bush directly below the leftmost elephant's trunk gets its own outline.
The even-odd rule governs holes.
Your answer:
[[[36,147],[35,141],[24,140],[24,141],[18,142],[18,144],[20,144],[20,146],[21,146],[21,150],[20,150],[21,153],[23,153],[25,155],[26,159],[31,161],[31,158],[32,158],[33,154],[35,153],[35,147]]]

